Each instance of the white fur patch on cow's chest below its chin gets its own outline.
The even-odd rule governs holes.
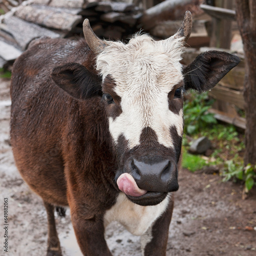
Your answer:
[[[140,206],[131,202],[124,193],[117,197],[115,205],[105,212],[104,226],[118,221],[135,236],[141,236],[163,214],[169,203],[169,195],[153,206]]]

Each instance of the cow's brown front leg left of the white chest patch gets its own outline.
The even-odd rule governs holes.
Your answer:
[[[72,223],[76,239],[83,255],[111,256],[111,252],[104,239],[104,226],[101,217],[94,216],[84,219],[85,216],[72,215]]]

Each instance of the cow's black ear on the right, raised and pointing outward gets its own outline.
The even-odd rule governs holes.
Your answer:
[[[210,90],[240,61],[236,55],[226,52],[201,53],[183,70],[185,89],[199,92]]]

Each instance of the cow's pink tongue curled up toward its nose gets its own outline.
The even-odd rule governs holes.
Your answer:
[[[124,173],[117,179],[118,188],[127,196],[140,197],[147,193],[146,190],[140,189],[132,175]]]

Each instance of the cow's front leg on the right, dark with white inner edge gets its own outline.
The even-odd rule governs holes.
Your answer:
[[[168,241],[169,225],[173,215],[174,202],[170,200],[164,214],[141,236],[141,250],[144,256],[164,256]]]

